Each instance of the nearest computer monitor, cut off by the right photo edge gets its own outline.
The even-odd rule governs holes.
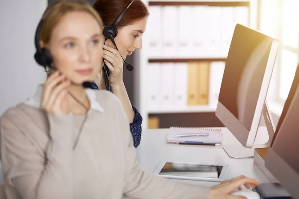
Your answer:
[[[265,166],[294,199],[299,199],[299,65],[268,151]]]

